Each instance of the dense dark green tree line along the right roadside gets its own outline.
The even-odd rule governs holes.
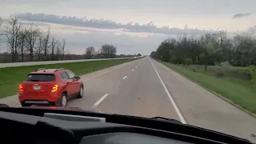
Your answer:
[[[225,31],[198,38],[185,34],[181,38],[165,39],[150,56],[174,64],[204,65],[205,70],[220,62],[229,62],[232,66],[256,66],[256,38],[252,34],[235,34],[229,38]]]

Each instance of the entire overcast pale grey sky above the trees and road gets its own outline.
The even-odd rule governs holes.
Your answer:
[[[118,54],[150,54],[165,38],[214,30],[238,32],[256,25],[255,0],[0,0],[0,17],[51,27],[81,54],[113,44]]]

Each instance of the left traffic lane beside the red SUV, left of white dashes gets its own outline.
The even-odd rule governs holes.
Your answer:
[[[81,76],[85,86],[84,97],[81,99],[71,99],[67,106],[80,107],[83,110],[95,110],[92,109],[94,103],[106,94],[106,91],[116,89],[116,87],[114,87],[114,83],[121,82],[119,81],[119,79],[121,80],[121,77],[118,78],[119,71],[126,67],[129,68],[131,65],[139,61],[142,61],[142,59],[126,62],[118,66],[113,66],[105,70],[99,70],[94,73]]]

